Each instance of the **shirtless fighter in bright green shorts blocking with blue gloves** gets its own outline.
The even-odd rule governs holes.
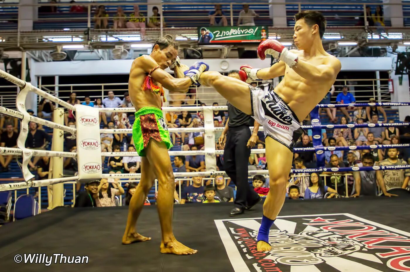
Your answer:
[[[162,231],[160,251],[187,255],[195,254],[197,251],[178,242],[172,232],[175,181],[168,154],[172,144],[161,110],[162,102],[165,101],[162,87],[173,93],[186,93],[189,86],[197,83],[201,70],[207,70],[208,66],[203,62],[196,62],[186,69],[185,65],[179,63],[177,55],[178,45],[171,35],[165,35],[155,42],[149,56],[141,56],[132,62],[128,88],[132,105],[137,111],[132,137],[135,148],[142,157],[141,181],[130,201],[122,243],[130,244],[151,239],[137,233],[135,224],[147,194],[157,178],[157,209]],[[167,67],[174,69],[177,78],[164,71]]]

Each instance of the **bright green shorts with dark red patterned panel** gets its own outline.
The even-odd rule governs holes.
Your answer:
[[[164,142],[168,149],[173,147],[162,110],[155,107],[143,107],[135,113],[132,138],[135,149],[141,157],[146,156],[145,149],[151,138],[159,143]]]

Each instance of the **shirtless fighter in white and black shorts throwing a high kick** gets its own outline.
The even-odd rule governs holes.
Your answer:
[[[288,50],[277,40],[265,40],[257,49],[258,56],[263,60],[270,54],[280,61],[265,69],[241,67],[241,79],[248,83],[285,76],[275,90],[270,83],[252,87],[214,71],[204,72],[199,78],[201,85],[214,87],[264,127],[270,190],[263,205],[258,251],[272,249],[269,229],[285,201],[293,146],[302,134],[299,120],[326,95],[341,68],[339,60],[323,49],[326,20],[321,13],[302,11],[295,15],[295,21],[293,38],[299,50]]]

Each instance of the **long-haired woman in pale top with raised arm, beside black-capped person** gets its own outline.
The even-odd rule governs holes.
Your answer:
[[[118,183],[119,179],[115,179],[109,185],[107,178],[102,178],[98,185],[96,197],[97,207],[115,207],[115,196],[121,196],[124,193],[124,188]]]

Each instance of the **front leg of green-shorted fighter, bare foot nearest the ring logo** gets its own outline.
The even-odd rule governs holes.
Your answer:
[[[162,231],[161,253],[195,254],[197,250],[178,242],[172,232],[175,178],[168,148],[164,142],[159,143],[154,139],[150,139],[146,148],[146,155],[158,179],[157,209]]]

